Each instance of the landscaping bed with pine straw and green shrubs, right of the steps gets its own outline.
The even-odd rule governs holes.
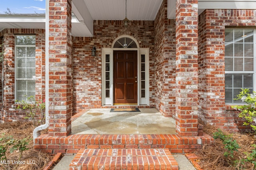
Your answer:
[[[204,125],[204,133],[214,137],[213,134],[218,133],[218,129],[211,125]],[[256,144],[256,134],[254,132],[223,133],[224,137],[228,139],[225,141],[226,145],[223,144],[222,140],[215,139],[214,144],[204,145],[202,149],[194,152],[199,158],[197,163],[200,167],[204,170],[254,170],[252,162],[256,161],[256,151],[252,145]],[[239,146],[237,150],[234,150],[234,143]],[[230,153],[227,148],[229,150],[233,149],[233,153]],[[224,156],[225,152],[228,155]],[[251,154],[251,162],[248,161],[249,156],[245,152]]]

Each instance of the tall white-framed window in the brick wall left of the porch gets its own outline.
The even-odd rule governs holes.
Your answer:
[[[16,100],[26,101],[36,94],[36,36],[16,35]]]

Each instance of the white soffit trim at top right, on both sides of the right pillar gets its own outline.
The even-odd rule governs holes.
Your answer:
[[[256,9],[255,0],[198,0],[198,14],[206,9]],[[168,19],[176,17],[176,0],[168,0]]]

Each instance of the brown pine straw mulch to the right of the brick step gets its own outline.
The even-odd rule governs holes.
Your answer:
[[[213,133],[217,132],[218,129],[211,125],[204,125],[204,133],[213,137]],[[254,147],[252,144],[256,144],[255,133],[229,133],[224,132],[226,135],[232,135],[232,138],[237,141],[241,147],[238,152],[234,152],[234,158],[225,157],[224,145],[220,139],[215,139],[214,144],[205,145],[202,149],[196,150],[194,153],[199,157],[198,164],[204,170],[253,170],[253,164],[245,162],[242,164],[242,158],[245,158],[244,152],[250,152]],[[235,166],[232,162],[238,160],[238,164]]]

